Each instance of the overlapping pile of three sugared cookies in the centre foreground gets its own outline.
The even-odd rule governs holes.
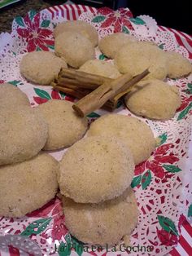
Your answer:
[[[137,223],[130,188],[135,164],[155,148],[149,126],[134,117],[109,114],[91,124],[59,165],[59,188],[69,232],[80,241],[116,245]]]

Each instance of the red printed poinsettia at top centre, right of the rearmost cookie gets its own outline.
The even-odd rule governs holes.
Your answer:
[[[107,28],[114,26],[114,32],[122,32],[124,26],[133,30],[133,26],[129,21],[130,17],[133,17],[131,11],[126,8],[120,8],[116,11],[111,10],[108,7],[98,9],[98,14],[105,15],[106,19],[101,24],[101,28]]]

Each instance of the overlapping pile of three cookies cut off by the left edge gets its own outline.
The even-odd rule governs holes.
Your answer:
[[[2,84],[0,108],[0,216],[22,217],[55,196],[58,162],[40,153],[48,126],[20,89]]]

